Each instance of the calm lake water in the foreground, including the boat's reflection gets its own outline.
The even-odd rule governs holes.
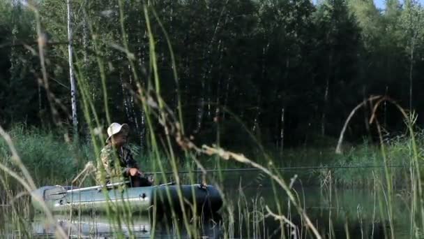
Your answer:
[[[257,174],[232,174],[227,175],[225,191],[229,204],[233,208],[235,223],[229,229],[228,212],[221,211],[220,216],[213,219],[204,219],[204,224],[199,229],[202,238],[222,238],[223,235],[232,235],[234,238],[280,238],[280,224],[275,219],[268,217],[262,221],[264,206],[268,205],[273,212],[277,212],[276,202],[282,208],[282,212],[289,217],[294,224],[298,225],[297,234],[303,238],[310,238],[310,233],[305,233],[301,226],[301,219],[296,210],[290,207],[285,193],[278,190],[273,193],[273,187],[266,178],[257,180]],[[243,182],[245,181],[245,182]],[[328,189],[326,187],[298,187],[298,198],[305,208],[312,222],[317,226],[324,238],[346,238],[346,229],[349,230],[350,238],[384,238],[384,228],[388,229],[388,220],[385,213],[379,210],[379,198],[372,189]],[[393,217],[396,238],[409,238],[409,213],[404,194],[394,196]],[[239,210],[239,207],[242,208]],[[1,210],[1,209],[0,209]],[[248,213],[243,213],[243,210]],[[239,213],[239,212],[242,213]],[[258,216],[259,215],[259,216]],[[249,218],[248,218],[249,217]],[[1,217],[0,217],[1,218]],[[6,217],[7,218],[7,217]],[[246,219],[248,218],[248,219]],[[254,223],[259,219],[258,223]],[[4,220],[4,218],[3,218]],[[66,232],[70,231],[73,237],[86,238],[114,238],[114,232],[119,231],[123,236],[131,233],[137,238],[174,238],[176,226],[162,219],[156,223],[153,229],[151,219],[146,215],[134,215],[132,224],[118,225],[110,222],[102,215],[74,216],[72,220],[66,215],[55,215],[54,221]],[[8,238],[53,237],[54,224],[47,223],[43,215],[36,215],[29,229],[30,235],[23,235],[16,226],[3,222],[0,233]],[[187,237],[187,232],[182,230],[183,224],[179,224],[179,234]],[[289,229],[286,227],[286,229]],[[231,233],[229,233],[231,231]],[[287,230],[287,233],[290,230]]]

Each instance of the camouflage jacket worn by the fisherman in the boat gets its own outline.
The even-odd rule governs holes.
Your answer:
[[[107,182],[117,182],[128,177],[130,168],[138,168],[137,162],[132,158],[131,150],[128,147],[115,149],[112,145],[106,145],[100,151],[100,161],[105,170],[105,179]],[[97,177],[101,182],[100,165],[98,165]]]

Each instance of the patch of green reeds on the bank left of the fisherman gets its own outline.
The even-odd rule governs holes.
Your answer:
[[[23,125],[14,126],[9,133],[22,162],[29,168],[38,185],[69,182],[90,157],[91,150],[80,147],[80,154],[84,161],[78,161],[73,154],[72,145],[66,143],[57,133],[48,133]],[[8,145],[1,140],[0,158],[2,162],[17,170],[10,155]]]

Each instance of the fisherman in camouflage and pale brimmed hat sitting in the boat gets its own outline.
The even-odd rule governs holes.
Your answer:
[[[151,186],[152,180],[145,178],[137,162],[132,158],[131,150],[126,147],[130,126],[112,123],[107,128],[106,145],[100,151],[100,160],[105,170],[107,184],[130,181],[129,187]],[[98,165],[97,180],[101,181],[101,165]]]

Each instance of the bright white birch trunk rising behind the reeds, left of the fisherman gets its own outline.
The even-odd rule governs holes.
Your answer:
[[[75,78],[73,72],[73,48],[72,48],[72,29],[70,19],[70,0],[66,1],[68,7],[68,61],[69,61],[69,79],[70,79],[70,100],[72,104],[72,122],[73,122],[73,133],[77,136],[78,120],[77,120],[77,92],[75,87]]]

